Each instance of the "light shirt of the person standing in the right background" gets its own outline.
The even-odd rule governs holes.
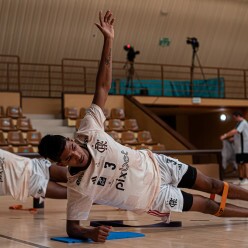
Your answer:
[[[236,126],[237,134],[234,135],[235,153],[248,153],[248,123],[244,119]]]

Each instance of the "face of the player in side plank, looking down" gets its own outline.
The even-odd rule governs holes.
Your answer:
[[[74,141],[67,140],[60,159],[64,166],[84,167],[88,163],[89,152],[86,149],[81,148]]]

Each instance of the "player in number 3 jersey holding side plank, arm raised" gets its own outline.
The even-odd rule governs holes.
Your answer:
[[[111,227],[84,228],[93,203],[168,218],[170,211],[198,211],[223,217],[248,217],[248,209],[226,204],[226,198],[248,201],[248,191],[210,178],[195,168],[149,150],[133,150],[115,142],[105,131],[105,106],[112,81],[112,13],[100,12],[96,24],[104,36],[96,91],[75,141],[47,135],[39,144],[45,158],[68,166],[67,233],[74,238],[104,242]],[[192,188],[222,195],[221,203],[192,195]],[[229,189],[229,190],[228,190]]]

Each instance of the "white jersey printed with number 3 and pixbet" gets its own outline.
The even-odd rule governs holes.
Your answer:
[[[93,203],[136,212],[148,211],[160,188],[160,169],[151,151],[132,150],[104,132],[105,116],[92,104],[76,135],[76,142],[92,156],[89,167],[68,173],[68,220],[88,218]]]

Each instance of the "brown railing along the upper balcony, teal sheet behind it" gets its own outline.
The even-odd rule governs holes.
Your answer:
[[[0,91],[22,96],[61,97],[62,92],[93,93],[98,60],[63,59],[61,64],[23,63],[0,55]],[[112,94],[247,98],[247,70],[113,61]],[[214,80],[214,81],[213,81]]]

